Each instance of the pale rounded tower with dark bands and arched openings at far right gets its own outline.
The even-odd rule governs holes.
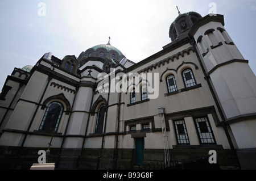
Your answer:
[[[207,15],[189,31],[230,125],[238,149],[256,148],[256,78],[224,28],[224,16]],[[254,152],[255,154],[255,152]]]

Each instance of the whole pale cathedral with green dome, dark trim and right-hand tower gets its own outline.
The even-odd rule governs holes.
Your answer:
[[[0,167],[125,169],[215,150],[221,169],[256,169],[256,78],[223,15],[180,14],[171,43],[138,62],[110,44],[46,53],[0,94]]]

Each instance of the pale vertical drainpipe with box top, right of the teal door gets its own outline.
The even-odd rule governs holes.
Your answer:
[[[170,153],[168,148],[168,141],[167,141],[167,133],[166,133],[166,123],[164,120],[164,108],[158,108],[158,114],[160,116],[160,121],[162,125],[162,132],[163,132],[163,142],[164,142],[164,165],[166,168],[170,167]]]

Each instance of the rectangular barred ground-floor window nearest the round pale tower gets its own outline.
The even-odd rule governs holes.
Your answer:
[[[195,124],[201,144],[215,144],[215,139],[208,117],[196,118]]]

